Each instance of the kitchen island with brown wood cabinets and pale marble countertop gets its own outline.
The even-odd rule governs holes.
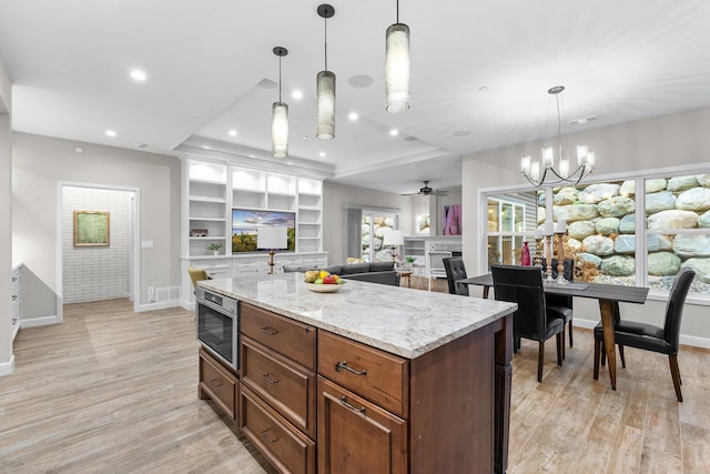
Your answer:
[[[201,350],[200,396],[234,386],[237,425],[280,471],[505,472],[515,304],[315,293],[300,273],[199,285],[241,302],[240,369],[225,384]]]

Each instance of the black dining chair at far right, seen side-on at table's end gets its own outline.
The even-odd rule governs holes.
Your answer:
[[[694,278],[694,270],[688,266],[680,269],[680,272],[676,275],[676,281],[673,282],[673,286],[668,295],[668,302],[666,303],[666,321],[662,327],[636,321],[615,320],[613,335],[618,344],[668,355],[670,374],[673,379],[676,397],[679,402],[683,401],[683,395],[680,390],[682,382],[680,380],[680,370],[678,369],[680,320],[683,315],[683,307],[690,284]],[[602,340],[604,333],[601,326],[597,325],[595,327],[595,379],[599,377],[599,359]]]

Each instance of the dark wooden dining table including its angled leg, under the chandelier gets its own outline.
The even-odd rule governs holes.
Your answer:
[[[488,291],[494,285],[493,275],[490,273],[458,280],[458,282],[483,286],[485,299],[488,297]],[[566,284],[560,284],[555,280],[555,282],[545,282],[544,290],[546,294],[589,297],[599,301],[604,345],[607,353],[607,361],[609,363],[609,379],[611,381],[611,389],[617,390],[617,360],[613,321],[619,317],[620,302],[643,304],[648,296],[648,288],[588,282],[567,282]]]

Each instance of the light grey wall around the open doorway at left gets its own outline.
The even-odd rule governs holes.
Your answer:
[[[173,157],[14,133],[13,260],[22,261],[55,293],[59,181],[140,189],[139,302],[148,286],[180,286],[180,161]],[[61,294],[60,294],[61,296]],[[0,330],[2,331],[2,330]]]

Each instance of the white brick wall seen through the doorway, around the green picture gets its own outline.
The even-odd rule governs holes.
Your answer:
[[[130,191],[63,186],[64,303],[126,297],[131,256]],[[74,246],[74,211],[109,212],[109,246]]]

